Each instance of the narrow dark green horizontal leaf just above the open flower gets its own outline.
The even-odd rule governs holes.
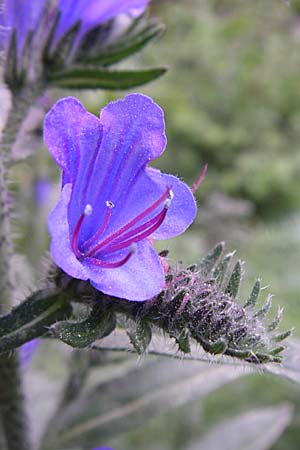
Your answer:
[[[49,81],[68,89],[128,89],[148,83],[162,76],[165,67],[147,70],[109,71],[96,67],[73,67],[60,73],[49,74]]]

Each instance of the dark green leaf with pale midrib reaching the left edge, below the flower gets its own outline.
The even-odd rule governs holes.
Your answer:
[[[37,291],[11,313],[0,317],[0,353],[13,350],[70,316],[71,305],[57,289]]]

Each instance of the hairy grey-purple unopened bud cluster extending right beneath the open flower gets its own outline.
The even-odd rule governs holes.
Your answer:
[[[285,347],[279,343],[290,335],[290,331],[276,331],[282,309],[275,318],[268,320],[270,296],[256,308],[261,291],[259,280],[244,305],[237,303],[242,266],[238,261],[231,268],[233,253],[222,254],[223,244],[219,244],[199,264],[182,268],[167,266],[166,252],[163,252],[161,257],[167,267],[164,289],[146,302],[109,297],[93,289],[88,282],[72,280],[62,273],[56,273],[56,283],[72,291],[74,299],[97,305],[93,311],[97,311],[98,317],[103,309],[122,318],[123,325],[124,316],[130,319],[128,334],[139,353],[146,351],[152,332],[162,331],[174,338],[178,350],[184,353],[190,352],[190,343],[194,341],[211,354],[224,354],[252,363],[280,362]],[[74,323],[72,330],[75,332]]]

